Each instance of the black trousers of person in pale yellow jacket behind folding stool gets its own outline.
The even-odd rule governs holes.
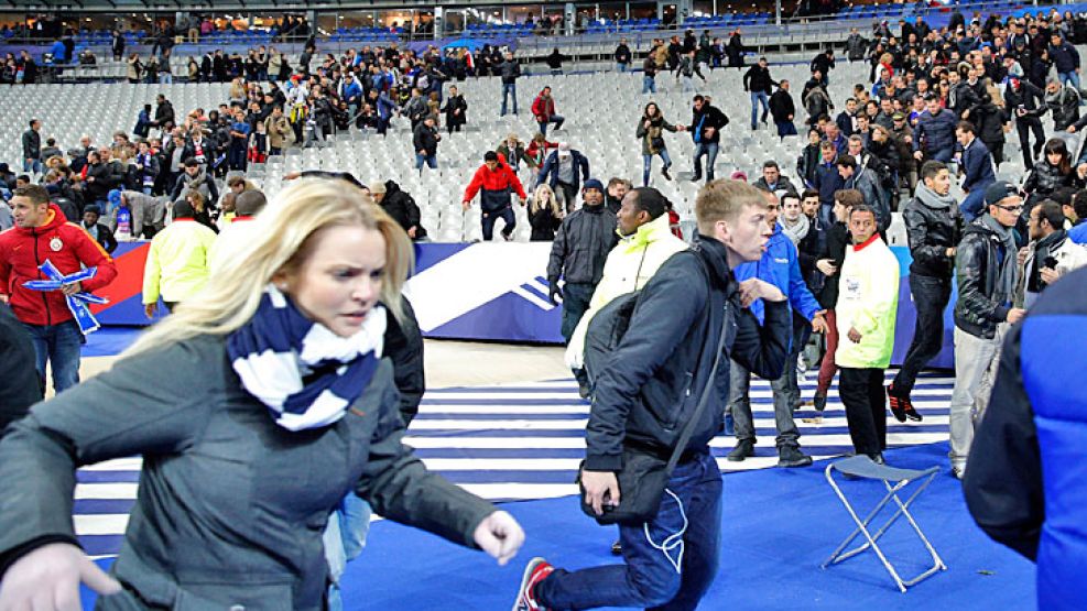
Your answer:
[[[883,370],[841,368],[838,394],[846,406],[849,438],[857,454],[872,456],[887,449]]]

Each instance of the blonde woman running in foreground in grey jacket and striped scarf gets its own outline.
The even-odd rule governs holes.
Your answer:
[[[339,181],[301,181],[252,222],[235,264],[110,371],[8,428],[0,484],[21,492],[0,500],[0,609],[77,607],[80,581],[107,611],[320,609],[322,531],[348,492],[500,564],[520,548],[509,514],[402,443],[381,359],[412,266],[400,226]],[[134,455],[109,577],[75,545],[75,469]]]

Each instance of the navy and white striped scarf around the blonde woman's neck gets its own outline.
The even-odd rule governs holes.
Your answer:
[[[269,285],[257,314],[227,338],[227,354],[242,385],[276,424],[304,430],[336,423],[361,396],[381,358],[384,331],[381,306],[344,338],[306,318]]]

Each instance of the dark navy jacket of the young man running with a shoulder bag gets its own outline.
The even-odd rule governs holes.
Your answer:
[[[781,374],[792,325],[789,305],[767,303],[765,325],[760,326],[740,306],[738,288],[725,246],[702,236],[642,288],[629,330],[595,382],[585,432],[587,469],[621,469],[624,443],[661,456],[671,452],[698,404],[726,317],[715,391],[685,450],[707,451],[722,428],[730,359],[765,379]]]

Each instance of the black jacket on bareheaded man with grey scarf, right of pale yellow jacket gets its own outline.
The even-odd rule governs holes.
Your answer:
[[[902,208],[902,220],[913,257],[910,273],[949,281],[955,258],[947,257],[947,249],[957,246],[963,234],[958,206],[932,208],[914,197]]]

